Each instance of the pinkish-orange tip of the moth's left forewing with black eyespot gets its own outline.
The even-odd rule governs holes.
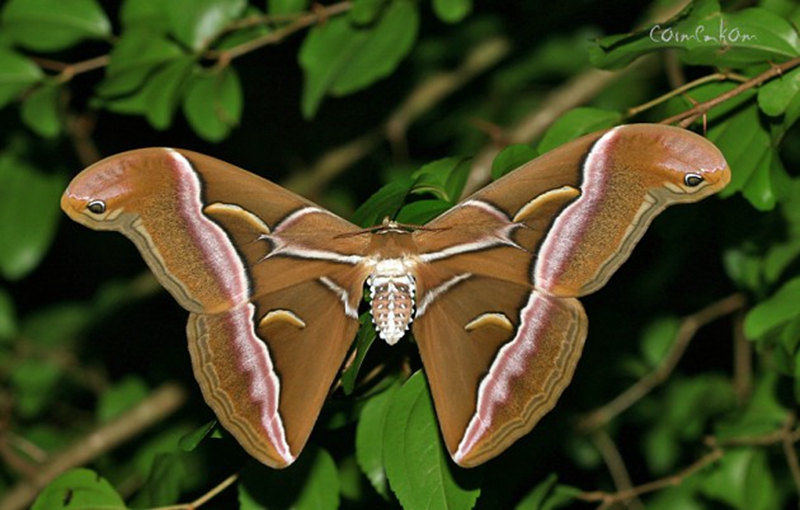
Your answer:
[[[79,173],[61,197],[61,209],[73,220],[98,230],[118,229],[152,198],[163,149],[126,152],[99,161]],[[128,213],[128,214],[126,214]]]

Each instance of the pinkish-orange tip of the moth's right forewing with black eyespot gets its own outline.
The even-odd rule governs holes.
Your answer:
[[[624,154],[647,161],[660,182],[658,193],[676,202],[695,202],[719,192],[731,180],[722,152],[706,138],[672,126],[631,124],[620,133]]]

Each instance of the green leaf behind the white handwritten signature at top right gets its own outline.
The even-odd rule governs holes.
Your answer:
[[[590,57],[597,67],[617,69],[667,49],[682,50],[690,64],[737,67],[788,60],[800,55],[800,42],[789,22],[766,9],[722,13],[717,0],[698,0],[668,22],[600,39]]]

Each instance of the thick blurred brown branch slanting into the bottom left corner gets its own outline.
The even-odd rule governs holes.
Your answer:
[[[21,480],[0,500],[0,510],[22,510],[58,475],[116,448],[160,422],[186,401],[186,392],[174,383],[156,389],[145,401],[110,423],[99,426],[39,466],[35,476]]]

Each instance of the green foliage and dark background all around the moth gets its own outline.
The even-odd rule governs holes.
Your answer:
[[[193,508],[533,510],[594,507],[648,482],[638,495],[648,509],[796,506],[800,68],[731,91],[800,56],[800,7],[674,4],[0,3],[0,508],[153,508],[208,495]],[[497,41],[510,50],[459,74]],[[618,76],[557,110],[553,94],[592,66]],[[425,96],[431,83],[450,92]],[[658,218],[611,283],[585,299],[589,339],[559,405],[473,470],[441,447],[425,379],[407,377],[419,366],[414,349],[373,344],[368,320],[344,391],[298,462],[272,471],[249,460],[209,423],[185,314],[141,276],[133,246],[58,212],[83,166],[159,145],[310,182],[311,198],[365,226],[387,214],[423,223],[458,200],[471,158],[498,145],[513,142],[494,177],[583,133],[720,97],[692,127],[725,153],[731,185]],[[406,125],[384,124],[407,102]],[[558,117],[546,132],[507,136],[540,111]],[[372,145],[320,173],[354,140]],[[702,312],[734,294],[746,308]],[[681,339],[691,343],[678,360]],[[632,406],[576,427],[672,361]],[[188,392],[178,412],[70,463],[92,434],[153,405],[170,382]],[[36,486],[42,477],[49,483]],[[235,489],[212,492],[223,480]]]

